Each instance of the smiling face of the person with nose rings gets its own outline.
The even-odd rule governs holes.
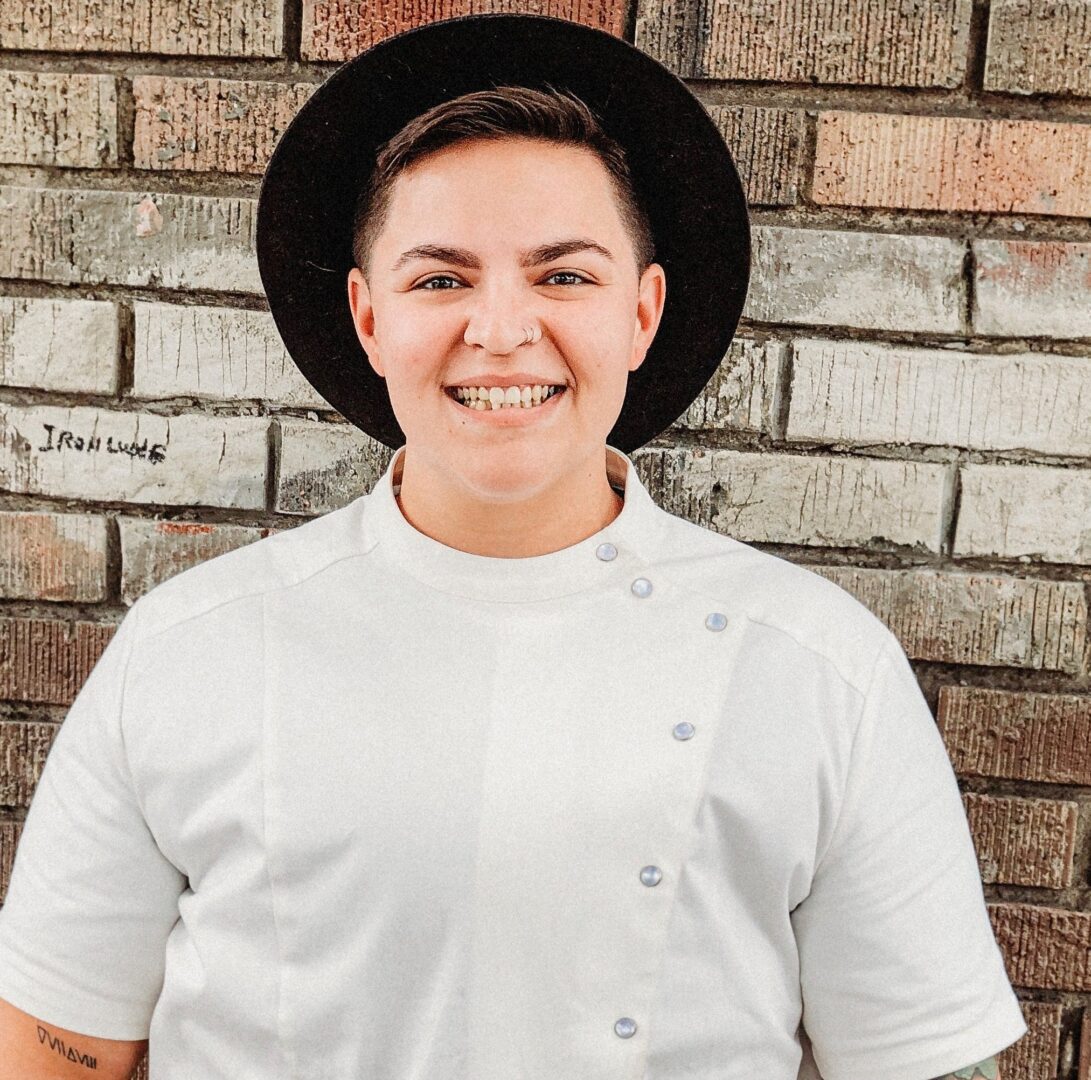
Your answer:
[[[371,280],[353,268],[348,293],[407,454],[477,497],[517,500],[576,470],[604,476],[666,275],[657,263],[638,275],[598,157],[509,137],[448,146],[404,171]],[[540,329],[533,344],[520,344],[527,328]],[[484,411],[448,389],[513,382],[565,389],[531,409]]]

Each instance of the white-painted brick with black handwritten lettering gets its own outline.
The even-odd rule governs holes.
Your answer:
[[[267,428],[261,417],[0,405],[0,489],[261,509]]]

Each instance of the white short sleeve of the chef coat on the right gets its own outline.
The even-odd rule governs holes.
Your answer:
[[[927,1080],[1027,1032],[955,770],[892,635],[863,698],[834,832],[791,920],[824,1080]]]

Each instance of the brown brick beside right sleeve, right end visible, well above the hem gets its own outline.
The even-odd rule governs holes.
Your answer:
[[[1064,889],[1072,884],[1079,803],[968,792],[962,804],[986,885]]]

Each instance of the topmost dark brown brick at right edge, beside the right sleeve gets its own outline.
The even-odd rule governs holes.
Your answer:
[[[1091,785],[1091,696],[940,686],[936,722],[955,771]]]

